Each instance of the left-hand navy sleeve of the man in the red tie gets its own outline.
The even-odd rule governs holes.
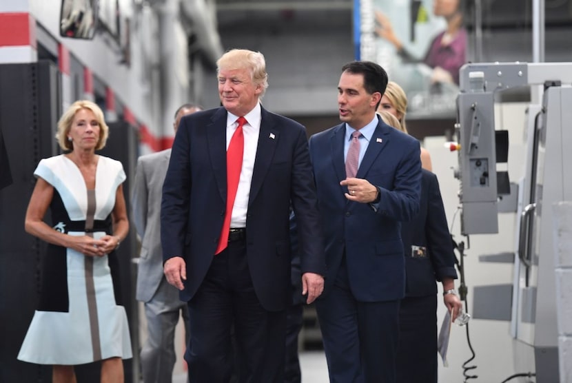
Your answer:
[[[161,247],[163,262],[184,256],[190,209],[190,127],[183,118],[177,130],[161,198]]]

